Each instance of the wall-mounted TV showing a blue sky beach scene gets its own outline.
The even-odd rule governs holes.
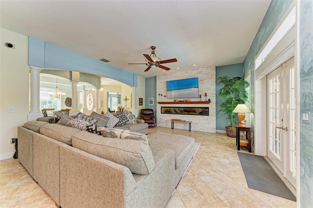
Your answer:
[[[198,97],[198,77],[166,81],[167,98],[193,98]]]

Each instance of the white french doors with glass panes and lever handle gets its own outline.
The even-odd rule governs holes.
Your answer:
[[[296,187],[294,58],[268,74],[268,158]]]

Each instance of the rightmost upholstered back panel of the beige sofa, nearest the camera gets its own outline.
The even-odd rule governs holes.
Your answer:
[[[60,145],[61,207],[122,208],[125,196],[135,187],[136,182],[127,167],[66,144]]]

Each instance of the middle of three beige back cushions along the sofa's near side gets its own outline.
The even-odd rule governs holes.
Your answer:
[[[59,124],[49,123],[40,128],[40,134],[45,135],[49,138],[61,141],[68,145],[72,145],[72,136],[81,130],[62,126]]]

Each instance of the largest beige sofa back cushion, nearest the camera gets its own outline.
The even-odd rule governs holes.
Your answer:
[[[81,131],[72,138],[73,147],[128,167],[132,173],[149,174],[155,166],[149,144],[143,140],[104,138]]]

